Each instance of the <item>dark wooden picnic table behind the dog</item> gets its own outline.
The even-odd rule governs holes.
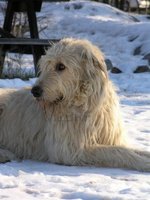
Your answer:
[[[6,52],[33,54],[35,73],[38,73],[37,62],[44,53],[44,48],[58,40],[40,39],[36,12],[41,11],[43,1],[58,2],[68,0],[6,0],[7,8],[3,28],[0,28],[0,76],[2,75]],[[15,12],[26,12],[28,16],[30,38],[16,38],[11,34]]]

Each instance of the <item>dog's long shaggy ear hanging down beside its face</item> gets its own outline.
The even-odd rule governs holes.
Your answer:
[[[79,52],[82,75],[78,99],[83,102],[82,105],[87,105],[88,109],[89,107],[93,109],[95,105],[103,101],[105,96],[105,87],[108,82],[106,64],[101,51],[91,43],[85,43]]]

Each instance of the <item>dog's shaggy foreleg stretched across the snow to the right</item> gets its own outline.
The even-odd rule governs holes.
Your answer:
[[[150,172],[150,159],[137,154],[134,150],[119,146],[85,148],[79,153],[77,164]]]

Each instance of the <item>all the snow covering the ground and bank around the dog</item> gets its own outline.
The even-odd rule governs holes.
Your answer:
[[[86,38],[101,47],[122,74],[111,74],[131,144],[150,151],[150,73],[134,74],[150,53],[150,20],[101,3],[44,3],[37,14],[41,38]],[[3,16],[0,13],[0,25]],[[141,46],[139,55],[135,48]],[[26,59],[31,66],[32,58]],[[14,63],[12,63],[14,65]],[[31,86],[35,79],[0,80],[0,87]],[[68,167],[31,160],[0,164],[0,199],[148,200],[150,173],[133,170]]]

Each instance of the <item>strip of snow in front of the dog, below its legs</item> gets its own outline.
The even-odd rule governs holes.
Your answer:
[[[2,165],[0,199],[146,199],[147,174],[33,161]],[[137,197],[137,198],[136,198]]]

